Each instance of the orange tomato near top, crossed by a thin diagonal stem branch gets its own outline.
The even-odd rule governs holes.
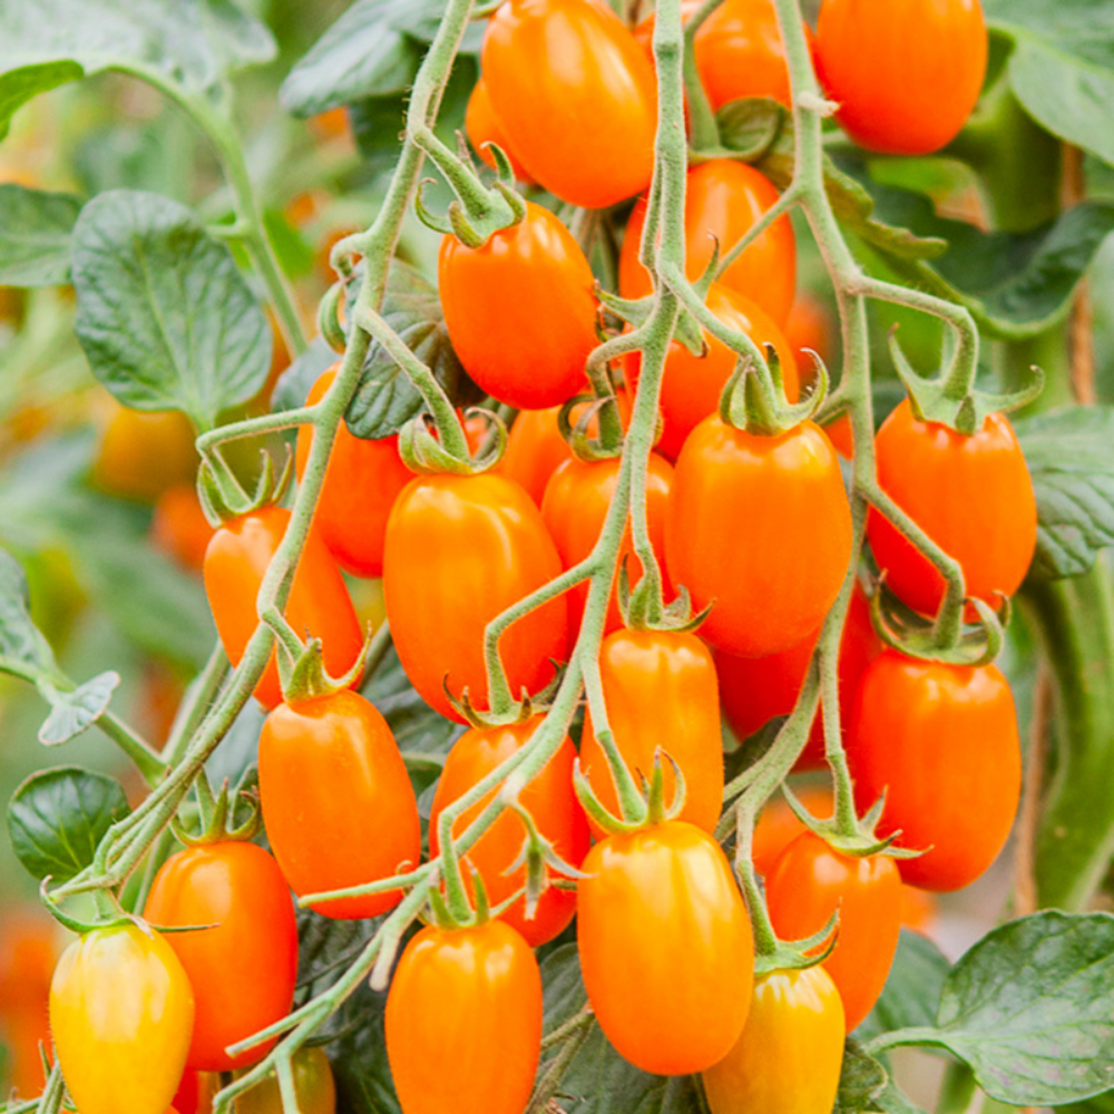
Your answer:
[[[776,203],[778,196],[769,178],[746,163],[716,158],[693,167],[685,193],[685,272],[688,277],[696,280],[704,273],[716,244],[721,257],[730,252]],[[645,223],[646,198],[639,197],[627,222],[619,253],[619,293],[624,297],[643,297],[653,289],[649,272],[638,262]],[[778,217],[731,264],[720,282],[756,303],[773,319],[776,329],[789,314],[797,287],[797,241],[789,217]],[[762,343],[766,338],[755,340]],[[783,359],[782,362],[791,361]]]

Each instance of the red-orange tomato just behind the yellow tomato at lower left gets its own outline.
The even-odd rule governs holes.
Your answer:
[[[144,917],[174,932],[174,949],[194,988],[188,1067],[227,1072],[254,1064],[274,1040],[233,1058],[225,1048],[290,1013],[297,978],[297,922],[286,880],[254,843],[192,847],[159,868]]]

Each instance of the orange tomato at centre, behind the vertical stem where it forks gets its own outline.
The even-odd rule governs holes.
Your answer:
[[[587,462],[569,457],[550,477],[546,495],[541,500],[541,517],[560,554],[565,568],[584,560],[595,548],[604,520],[610,508],[615,489],[618,487],[619,460]],[[665,509],[673,486],[673,466],[656,452],[649,456],[646,471],[646,520],[649,540],[657,555],[658,565],[665,579],[664,590],[670,596],[668,578],[665,577]],[[629,521],[619,545],[618,564],[627,563],[631,586],[642,579],[642,561],[635,555],[634,539]],[[616,574],[617,579],[617,574]],[[567,594],[569,619],[574,631],[579,631],[584,606],[588,598],[588,584],[584,582]],[[607,604],[605,633],[623,626],[616,593],[613,589]]]

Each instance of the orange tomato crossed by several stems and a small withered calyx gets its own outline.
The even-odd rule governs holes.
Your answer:
[[[438,819],[441,813],[525,745],[540,723],[540,717],[535,717],[506,727],[472,727],[452,744],[441,771],[429,818],[431,857],[440,853]],[[588,851],[588,824],[573,789],[576,747],[566,737],[541,772],[522,789],[518,800],[534,818],[538,832],[553,844],[557,854],[570,866],[579,867]],[[497,792],[498,790],[492,790],[467,809],[453,827],[453,836],[463,834],[468,825],[491,803]],[[506,873],[507,868],[519,857],[526,837],[526,825],[508,809],[465,856],[466,862],[475,867],[483,879],[488,900],[492,906],[499,905],[526,883],[525,863]],[[526,918],[525,903],[525,898],[520,898],[499,919],[518,931],[530,947],[537,948],[568,926],[576,912],[576,892],[550,886],[538,899],[531,919]]]

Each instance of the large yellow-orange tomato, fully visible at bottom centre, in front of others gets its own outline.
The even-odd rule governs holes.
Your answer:
[[[656,1075],[719,1063],[754,979],[750,918],[720,844],[671,820],[609,836],[583,869],[580,968],[607,1039]]]

